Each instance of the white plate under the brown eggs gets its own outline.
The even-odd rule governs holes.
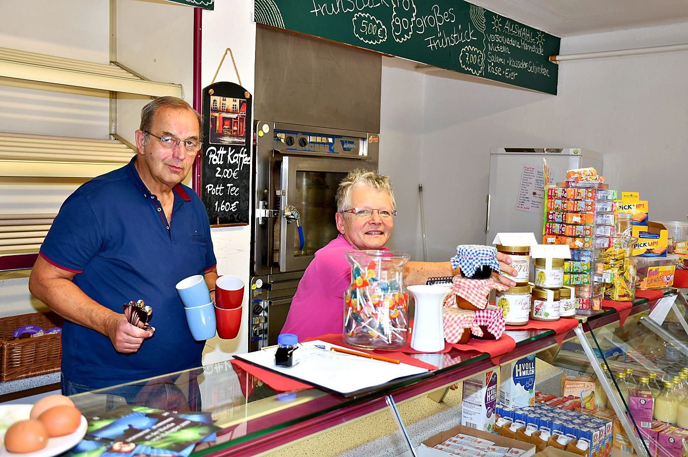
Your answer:
[[[13,423],[28,419],[33,405],[0,405],[0,443],[4,444],[5,432]],[[88,423],[84,416],[76,430],[65,436],[48,438],[47,446],[39,451],[23,454],[13,453],[3,445],[0,457],[52,457],[72,449],[86,434]]]

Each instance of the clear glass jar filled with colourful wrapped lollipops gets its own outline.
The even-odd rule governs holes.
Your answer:
[[[343,340],[363,349],[398,349],[409,339],[409,293],[399,251],[350,251],[351,286],[344,293]]]

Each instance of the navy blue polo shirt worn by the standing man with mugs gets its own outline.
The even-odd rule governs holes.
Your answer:
[[[119,354],[103,334],[65,321],[62,372],[72,383],[107,387],[201,365],[175,284],[215,266],[205,207],[182,184],[174,188],[171,224],[134,167],[99,176],[63,203],[41,256],[77,273],[74,284],[99,304],[122,312],[129,301],[153,307],[153,337]]]

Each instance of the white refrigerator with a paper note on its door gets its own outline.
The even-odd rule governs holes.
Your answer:
[[[581,148],[493,148],[485,218],[486,244],[500,232],[533,232],[540,241],[544,211],[543,159],[550,182],[566,179],[566,171],[592,167],[603,174],[602,156]]]

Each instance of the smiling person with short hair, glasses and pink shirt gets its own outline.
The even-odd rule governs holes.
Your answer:
[[[396,202],[389,176],[356,169],[340,183],[334,215],[339,235],[315,253],[299,281],[297,293],[282,333],[297,334],[299,340],[328,333],[341,333],[343,296],[351,284],[351,266],[345,254],[362,249],[387,250],[394,231]],[[508,255],[497,253],[502,271],[515,276]],[[408,262],[404,285],[425,284],[429,277],[455,274],[447,262]],[[493,274],[497,281],[515,286],[508,277]]]

